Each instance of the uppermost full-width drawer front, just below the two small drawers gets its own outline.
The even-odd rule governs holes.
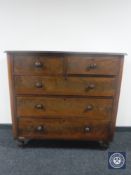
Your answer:
[[[17,94],[114,96],[115,78],[16,76]]]

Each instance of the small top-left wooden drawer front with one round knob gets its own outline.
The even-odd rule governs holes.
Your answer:
[[[16,75],[63,74],[63,59],[58,55],[15,55]]]

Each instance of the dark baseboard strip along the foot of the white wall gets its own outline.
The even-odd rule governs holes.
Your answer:
[[[0,129],[11,129],[12,124],[0,124]],[[116,132],[131,132],[131,126],[116,126]]]

